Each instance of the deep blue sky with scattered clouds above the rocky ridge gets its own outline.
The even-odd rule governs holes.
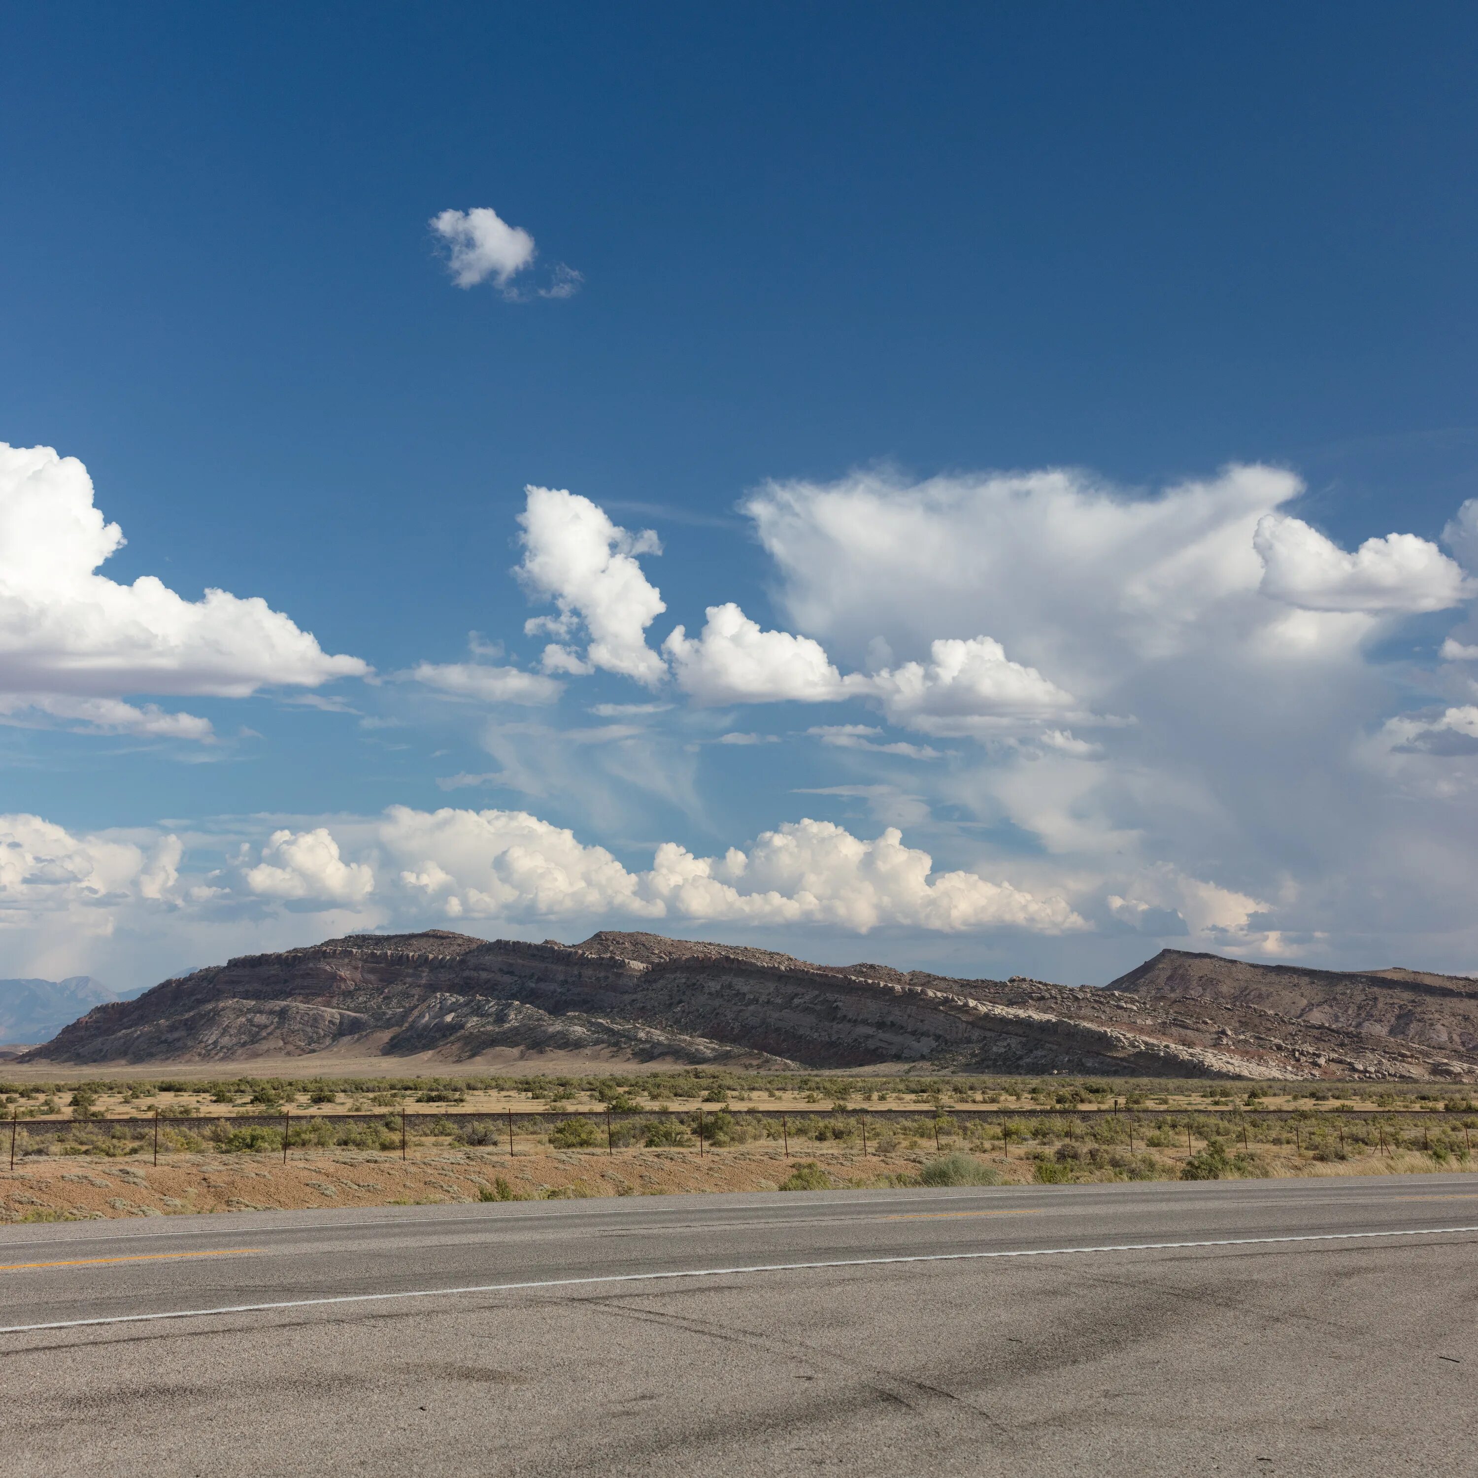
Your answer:
[[[109,581],[260,597],[358,667],[257,652],[223,696],[194,616],[139,675],[121,606],[22,590],[0,974],[602,924],[1095,981],[1162,943],[1478,970],[1475,31],[33,7],[0,56],[0,440],[86,467]],[[448,270],[430,222],[471,210],[532,238],[505,291]],[[64,511],[0,522],[16,569],[80,516],[80,471],[37,466],[0,498],[24,467]],[[661,591],[661,677],[545,671],[531,485],[655,532],[609,550]],[[664,647],[730,603],[791,638],[743,683],[748,627]],[[584,850],[531,834],[514,876],[508,816]],[[717,871],[664,882],[664,844]]]

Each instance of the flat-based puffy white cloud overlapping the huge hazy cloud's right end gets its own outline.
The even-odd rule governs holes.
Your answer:
[[[1366,539],[1349,554],[1302,519],[1268,514],[1252,542],[1262,593],[1305,610],[1445,610],[1474,593],[1460,566],[1414,534]]]

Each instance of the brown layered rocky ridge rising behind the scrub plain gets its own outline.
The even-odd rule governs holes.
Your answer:
[[[1176,973],[1175,961],[1212,965]],[[1233,974],[1218,974],[1221,965]],[[1379,1018],[1382,1033],[1349,1024],[1338,990],[1314,1001],[1312,987],[1296,986],[1283,1001],[1277,983],[1256,975],[1262,968],[1166,952],[1094,990],[811,965],[658,934],[602,933],[571,946],[433,930],[248,955],[167,980],[136,1001],[96,1007],[25,1060],[241,1063],[331,1051],[384,1055],[392,1067],[398,1057],[471,1063],[511,1048],[593,1061],[928,1061],[980,1072],[1215,1077],[1478,1072],[1478,1032],[1466,1015],[1478,990],[1444,995],[1435,977],[1330,977],[1376,980],[1355,989],[1435,1002],[1422,1030],[1409,1030],[1395,1012]],[[1377,1020],[1370,1011],[1357,1017]]]

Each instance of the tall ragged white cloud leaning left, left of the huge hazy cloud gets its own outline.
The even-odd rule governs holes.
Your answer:
[[[535,616],[529,636],[560,637],[544,652],[545,671],[588,672],[605,668],[647,686],[661,683],[667,665],[646,644],[646,628],[664,612],[638,554],[661,554],[658,537],[628,534],[588,498],[556,488],[528,488],[519,514],[523,559],[517,576],[525,588],[559,606],[557,616]],[[588,636],[584,656],[565,644]]]

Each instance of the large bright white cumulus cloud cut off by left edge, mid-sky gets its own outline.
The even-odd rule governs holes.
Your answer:
[[[133,709],[134,693],[245,698],[268,686],[362,677],[260,597],[185,600],[152,575],[120,585],[98,566],[123,544],[86,467],[49,446],[0,443],[0,695],[98,730],[204,739],[188,714]]]

